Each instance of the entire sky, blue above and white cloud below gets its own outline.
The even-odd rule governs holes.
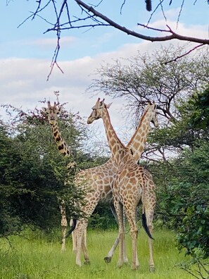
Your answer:
[[[139,4],[136,1],[125,1],[120,13],[122,2],[103,0],[96,9],[130,30],[147,34],[137,27],[137,23],[146,24],[151,16],[145,9],[144,1],[137,1]],[[80,11],[73,0],[69,0],[68,3],[72,14]],[[163,18],[162,11],[158,8],[151,18],[151,26],[165,29],[167,24],[179,34],[208,39],[207,0],[185,1],[177,25],[181,3],[182,1],[173,0],[171,6],[165,5],[167,20]],[[46,98],[53,102],[55,101],[53,92],[59,91],[61,103],[68,102],[65,109],[75,113],[79,111],[81,116],[87,117],[96,99],[105,97],[101,93],[93,95],[86,92],[97,68],[108,62],[113,63],[113,59],[128,58],[137,54],[137,51],[151,52],[160,46],[160,43],[142,41],[113,27],[66,30],[61,33],[61,50],[58,56],[58,64],[63,73],[55,67],[49,80],[46,81],[56,47],[56,33],[44,34],[50,25],[42,18],[27,20],[20,25],[36,6],[35,0],[0,1],[0,104],[11,104],[23,110],[34,109],[36,106],[40,108],[42,106],[40,100]],[[52,8],[49,6],[42,16],[53,20]],[[153,35],[153,32],[150,35]],[[162,45],[170,43],[178,42],[174,40]],[[107,103],[112,101],[110,118],[119,137],[124,137],[125,130],[130,132],[132,128],[121,113],[125,100],[106,97]],[[0,116],[5,118],[5,111],[2,108]],[[105,137],[102,125],[101,121],[96,121],[94,128],[99,129],[102,137]]]

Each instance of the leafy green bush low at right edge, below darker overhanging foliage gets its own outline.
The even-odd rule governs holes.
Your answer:
[[[208,142],[158,168],[156,213],[177,230],[179,248],[194,255],[201,249],[209,256],[209,158]],[[163,180],[164,178],[164,180]],[[161,215],[160,214],[160,215]]]

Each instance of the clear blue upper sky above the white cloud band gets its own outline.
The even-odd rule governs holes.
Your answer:
[[[108,2],[111,3],[111,8],[106,5]],[[144,1],[139,1],[139,5],[132,2],[126,2],[122,8],[122,14],[120,14],[122,1],[103,1],[101,8],[98,9],[104,11],[110,18],[118,20],[121,25],[129,27],[131,30],[137,30],[137,23],[146,23],[151,13],[146,11]],[[195,5],[192,4],[193,2],[194,0],[185,1],[180,22],[186,24],[187,27],[208,25],[209,9],[207,1],[198,0]],[[69,1],[69,3],[71,8],[73,1]],[[181,1],[173,1],[171,6],[165,5],[167,9],[165,9],[165,16],[167,16],[168,20],[177,21],[177,11],[179,11],[177,3],[179,4]],[[1,1],[1,58],[11,56],[18,58],[51,58],[53,46],[56,46],[56,35],[55,32],[43,34],[50,27],[49,24],[40,18],[35,18],[34,20],[28,20],[18,28],[18,25],[27,16],[30,16],[30,11],[34,11],[36,6],[37,2],[34,0],[13,0],[8,5],[6,5],[6,0]],[[72,9],[77,11],[75,4]],[[51,14],[52,9],[50,6],[42,16],[50,20],[53,19]],[[162,19],[160,8],[154,14],[151,22],[159,19]],[[145,31],[142,30],[142,32]],[[68,41],[65,39],[66,37],[68,37]],[[48,43],[46,39],[48,39]],[[52,39],[52,42],[49,39]],[[42,40],[45,40],[45,44]],[[95,27],[94,30],[87,32],[82,29],[63,31],[61,39],[61,47],[63,49],[60,52],[59,59],[66,60],[82,56],[94,56],[103,51],[114,51],[122,44],[139,43],[140,41],[112,27]]]

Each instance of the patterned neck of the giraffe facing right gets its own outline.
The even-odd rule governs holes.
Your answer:
[[[132,149],[133,157],[135,161],[139,161],[141,154],[144,151],[144,146],[146,144],[146,138],[150,128],[151,122],[151,112],[147,109],[137,127],[137,130],[134,132],[131,140],[127,144],[127,147]]]

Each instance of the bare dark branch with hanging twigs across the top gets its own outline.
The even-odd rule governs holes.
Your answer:
[[[7,3],[9,1],[7,0]],[[147,11],[151,11],[151,0],[146,0],[146,9]],[[196,4],[197,1],[194,1],[194,4]],[[153,13],[161,9],[162,11],[162,17],[165,20],[167,18],[165,17],[165,1],[159,1],[158,4],[155,4],[153,8]],[[170,6],[172,6],[173,1],[170,1]],[[184,42],[194,42],[196,45],[192,47],[188,52],[184,53],[183,55],[193,51],[194,49],[197,49],[198,47],[201,47],[205,44],[209,44],[209,39],[203,39],[203,38],[196,38],[196,37],[189,37],[180,35],[177,32],[174,32],[170,26],[166,25],[165,29],[156,29],[150,26],[150,21],[153,16],[153,13],[151,14],[150,19],[148,20],[148,23],[146,25],[141,23],[136,23],[138,26],[144,27],[147,31],[151,30],[152,32],[156,32],[156,36],[151,36],[148,33],[146,35],[130,30],[128,27],[125,27],[123,25],[120,25],[120,23],[115,22],[113,18],[108,18],[103,13],[103,5],[110,5],[108,1],[102,0],[98,1],[96,4],[89,6],[87,4],[87,1],[81,1],[81,0],[74,0],[74,1],[68,1],[63,0],[62,4],[59,2],[49,0],[47,3],[44,2],[44,0],[37,1],[37,8],[35,11],[31,13],[31,15],[26,19],[34,19],[36,17],[42,18],[45,23],[49,23],[50,27],[46,30],[46,32],[56,32],[57,36],[57,46],[54,52],[54,56],[51,63],[51,71],[53,70],[53,66],[58,66],[57,58],[58,58],[58,52],[60,50],[60,39],[61,39],[61,32],[63,30],[75,30],[75,29],[81,29],[88,30],[95,27],[114,27],[117,30],[120,30],[120,32],[124,32],[127,35],[137,37],[139,39],[148,40],[151,42],[165,42],[172,39],[178,39],[179,41]],[[123,8],[125,6],[130,5],[130,1],[122,1],[122,4],[118,7],[118,11],[115,11],[115,13],[122,13]],[[192,5],[192,3],[191,3]],[[207,3],[205,2],[205,6]],[[179,11],[179,16],[177,19],[177,23],[179,22],[181,18],[182,8],[184,7],[184,0],[182,0],[181,3],[181,9]],[[44,15],[44,11],[46,9],[50,8],[53,12],[53,19],[46,18]],[[136,8],[138,8],[138,5],[136,4]],[[143,8],[145,10],[145,7]],[[52,14],[52,13],[51,13]],[[23,23],[25,23],[25,21]],[[145,32],[146,33],[146,32]],[[163,33],[163,36],[159,35],[159,33]],[[177,56],[175,56],[177,58]],[[58,67],[59,68],[59,67]],[[49,75],[51,72],[49,73]],[[49,78],[49,77],[48,77]]]

